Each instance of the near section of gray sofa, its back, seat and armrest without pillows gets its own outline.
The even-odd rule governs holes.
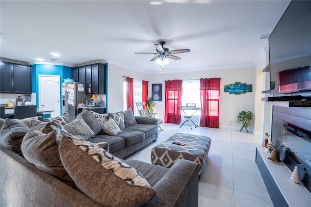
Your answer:
[[[100,207],[98,203],[54,176],[37,169],[25,158],[0,146],[0,206]],[[198,206],[197,163],[178,160],[165,168],[138,160],[125,161],[144,175],[156,191],[146,207]],[[109,182],[107,180],[107,182]],[[119,187],[115,186],[118,190]],[[105,192],[103,192],[105,196]],[[114,206],[112,203],[111,206]],[[131,205],[129,205],[131,206]]]

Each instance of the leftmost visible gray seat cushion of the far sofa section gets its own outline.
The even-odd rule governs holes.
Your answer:
[[[87,141],[92,143],[99,143],[99,142],[107,142],[109,144],[109,152],[113,153],[118,150],[124,148],[124,138],[111,136],[111,135],[97,135],[95,138],[90,138]]]

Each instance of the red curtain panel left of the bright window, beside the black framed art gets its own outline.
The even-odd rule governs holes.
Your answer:
[[[179,124],[181,121],[181,100],[183,80],[165,81],[165,123]]]

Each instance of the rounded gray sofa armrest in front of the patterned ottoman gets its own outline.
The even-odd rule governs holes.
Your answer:
[[[179,159],[155,184],[155,197],[146,204],[150,207],[198,206],[199,165]]]

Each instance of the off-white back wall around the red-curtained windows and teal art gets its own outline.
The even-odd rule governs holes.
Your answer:
[[[241,124],[235,123],[239,112],[255,111],[255,89],[256,89],[256,68],[235,68],[204,70],[184,73],[168,73],[165,69],[163,76],[160,74],[144,74],[125,67],[117,66],[108,61],[108,112],[121,111],[123,109],[122,77],[127,76],[135,79],[149,81],[149,94],[151,96],[151,84],[162,84],[162,102],[157,102],[155,109],[157,117],[164,120],[164,81],[174,79],[200,79],[200,78],[221,78],[220,90],[220,128],[228,127],[230,121],[231,129],[240,129]],[[224,85],[241,82],[253,85],[253,92],[235,95],[224,92]],[[256,115],[255,115],[256,116]],[[254,120],[249,131],[254,129]]]

